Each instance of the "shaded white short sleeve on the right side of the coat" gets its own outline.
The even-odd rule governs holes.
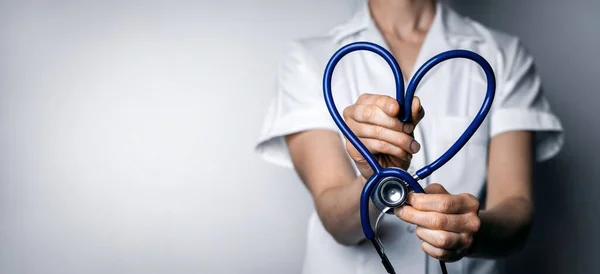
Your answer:
[[[506,49],[491,112],[490,135],[528,130],[535,133],[536,160],[554,157],[564,143],[563,127],[543,94],[533,57],[515,39]]]

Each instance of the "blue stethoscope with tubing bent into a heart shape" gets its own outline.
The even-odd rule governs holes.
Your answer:
[[[423,76],[435,65],[453,58],[466,58],[475,61],[483,71],[487,78],[487,91],[483,104],[479,109],[479,112],[469,124],[465,132],[456,140],[456,142],[437,160],[431,164],[424,166],[419,169],[414,175],[395,167],[383,168],[375,157],[369,153],[369,150],[363,145],[363,143],[354,135],[354,133],[348,128],[348,125],[344,122],[340,116],[335,103],[333,101],[331,93],[331,78],[333,76],[333,70],[338,62],[348,53],[358,50],[367,50],[378,54],[383,57],[388,65],[392,68],[394,73],[394,79],[396,81],[396,100],[401,107],[400,114],[398,117],[403,123],[411,122],[411,106],[413,95],[417,88],[417,85],[423,79]],[[475,131],[481,126],[481,123],[486,118],[494,100],[496,91],[496,78],[494,71],[490,64],[479,54],[468,50],[450,50],[440,53],[433,58],[429,59],[423,66],[421,66],[414,77],[408,84],[406,89],[406,95],[404,94],[404,81],[402,77],[402,71],[393,55],[385,48],[370,42],[354,42],[348,44],[333,54],[323,76],[323,94],[325,96],[325,103],[329,109],[331,117],[335,121],[336,125],[342,131],[344,136],[354,145],[354,147],[360,152],[360,154],[367,161],[373,175],[367,180],[363,187],[360,197],[360,221],[365,237],[373,243],[375,250],[381,257],[381,261],[388,273],[393,274],[394,268],[390,263],[389,259],[385,255],[383,245],[373,228],[371,227],[369,219],[369,199],[373,201],[373,204],[382,211],[382,214],[390,213],[389,209],[402,206],[406,202],[406,197],[409,191],[417,193],[425,193],[418,181],[427,178],[438,168],[446,164],[454,155],[456,155],[460,149],[469,141]],[[376,225],[377,226],[377,225]],[[443,273],[447,273],[446,265],[440,260],[440,267]]]

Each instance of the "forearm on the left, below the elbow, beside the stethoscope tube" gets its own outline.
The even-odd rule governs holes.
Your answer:
[[[344,245],[354,245],[364,240],[360,223],[360,195],[365,179],[358,176],[352,182],[332,187],[315,197],[315,207],[325,229]],[[370,204],[371,224],[378,210]]]

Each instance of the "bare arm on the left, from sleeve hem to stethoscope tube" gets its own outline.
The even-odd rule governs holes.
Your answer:
[[[325,229],[341,244],[361,241],[358,209],[365,180],[354,173],[339,135],[310,130],[286,139],[296,172],[310,191]]]

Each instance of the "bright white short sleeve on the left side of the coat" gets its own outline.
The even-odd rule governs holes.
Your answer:
[[[255,147],[265,161],[291,168],[286,135],[310,129],[336,130],[323,99],[323,69],[299,42],[288,43],[277,69],[274,97]]]

